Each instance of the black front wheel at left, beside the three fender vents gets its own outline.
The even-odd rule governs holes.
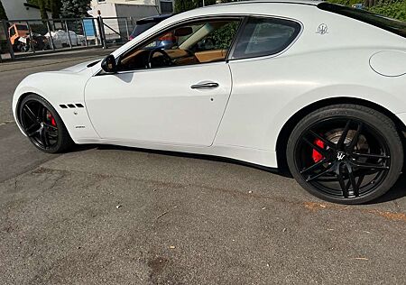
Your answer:
[[[18,115],[24,133],[42,152],[65,152],[72,146],[60,115],[42,97],[34,94],[24,97]]]

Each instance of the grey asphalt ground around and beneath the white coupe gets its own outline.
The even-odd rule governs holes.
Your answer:
[[[37,151],[14,123],[14,88],[107,52],[0,64],[0,284],[406,282],[405,175],[379,201],[346,207],[235,161]]]

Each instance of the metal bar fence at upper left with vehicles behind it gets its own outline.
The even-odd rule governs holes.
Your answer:
[[[129,41],[133,18],[106,17],[0,22],[0,61],[51,51],[69,51]]]

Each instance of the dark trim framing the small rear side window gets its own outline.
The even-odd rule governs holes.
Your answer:
[[[234,58],[234,53],[235,53],[235,49],[236,49],[236,45],[238,43],[238,41],[240,40],[242,33],[244,32],[244,28],[246,23],[248,22],[248,20],[250,18],[272,18],[272,19],[281,19],[281,20],[287,20],[287,21],[291,21],[294,23],[298,23],[300,25],[300,31],[298,32],[298,34],[296,35],[296,37],[289,43],[288,46],[286,46],[286,48],[284,48],[282,51],[279,52],[275,52],[275,53],[271,53],[271,54],[266,54],[266,55],[253,55],[253,56],[246,56],[246,57],[242,57],[242,58]],[[281,16],[276,16],[276,15],[254,15],[254,14],[250,14],[250,15],[246,15],[244,22],[241,24],[238,32],[237,32],[237,36],[235,37],[235,41],[233,42],[233,46],[230,49],[230,52],[228,53],[228,58],[227,58],[227,62],[229,61],[235,61],[235,60],[256,60],[256,59],[263,59],[263,58],[274,58],[277,57],[279,55],[281,55],[282,53],[284,53],[285,51],[288,51],[289,49],[291,49],[291,46],[298,41],[298,39],[300,38],[300,35],[303,32],[303,23],[301,23],[299,20],[296,19],[292,19],[292,18],[287,18],[287,17],[281,17]]]

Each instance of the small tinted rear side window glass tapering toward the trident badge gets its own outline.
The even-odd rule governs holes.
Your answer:
[[[233,59],[276,54],[286,49],[300,32],[300,24],[275,18],[250,18],[235,47]]]

